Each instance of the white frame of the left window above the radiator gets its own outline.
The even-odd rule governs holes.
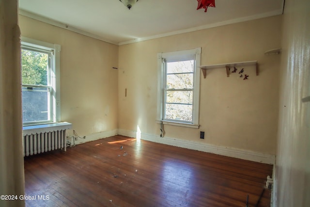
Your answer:
[[[51,94],[52,100],[51,102],[51,119],[48,122],[31,122],[31,123],[23,123],[23,126],[30,126],[36,124],[47,124],[47,123],[57,123],[61,121],[61,95],[60,95],[60,52],[61,46],[57,44],[51,44],[47,42],[42,42],[39,40],[34,40],[28,37],[21,37],[21,47],[29,47],[29,48],[38,48],[50,50],[52,52],[51,58],[51,74],[48,78],[50,78],[51,83]]]

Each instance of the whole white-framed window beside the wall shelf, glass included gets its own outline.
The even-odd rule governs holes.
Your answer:
[[[157,120],[199,127],[201,48],[158,53]]]

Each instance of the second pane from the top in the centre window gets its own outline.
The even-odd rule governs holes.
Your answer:
[[[168,74],[167,89],[192,89],[193,88],[193,73],[184,74]]]

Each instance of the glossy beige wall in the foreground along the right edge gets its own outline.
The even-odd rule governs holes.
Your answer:
[[[286,0],[283,15],[279,137],[276,161],[278,207],[310,206],[310,1]]]

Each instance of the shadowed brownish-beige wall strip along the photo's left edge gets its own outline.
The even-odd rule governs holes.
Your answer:
[[[17,0],[0,0],[0,207],[23,207],[24,159],[20,90],[20,31]]]

